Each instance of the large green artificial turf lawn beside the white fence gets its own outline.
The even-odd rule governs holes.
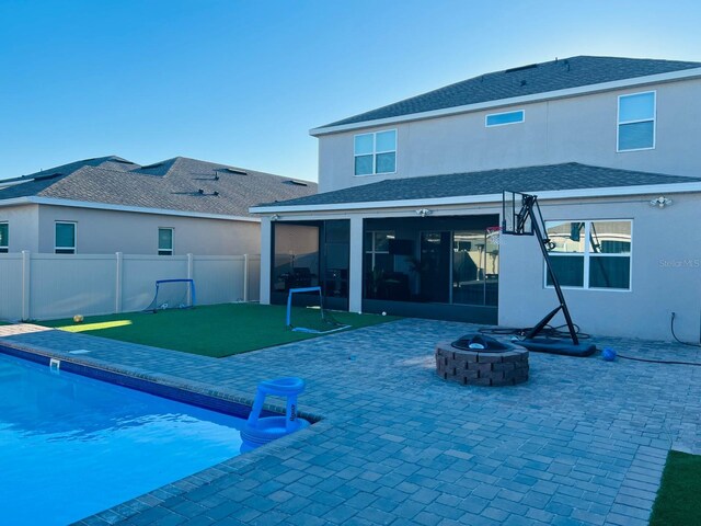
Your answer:
[[[85,317],[82,323],[66,319],[44,321],[39,324],[217,358],[324,336],[324,334],[308,334],[287,329],[285,315],[286,308],[278,305],[225,304],[194,309],[163,310],[154,315],[129,312],[90,316]],[[335,311],[333,316],[352,329],[398,319],[391,316]],[[345,331],[348,330],[350,329],[345,329]]]

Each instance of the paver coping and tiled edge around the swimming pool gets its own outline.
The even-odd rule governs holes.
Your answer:
[[[5,352],[10,350],[10,352]],[[248,413],[242,415],[241,410],[231,411],[232,407],[245,407],[251,409],[253,399],[241,396],[232,390],[211,389],[211,385],[200,381],[183,381],[181,377],[166,374],[149,374],[139,370],[136,367],[115,365],[95,357],[88,357],[84,354],[74,355],[70,352],[50,350],[35,345],[24,345],[16,342],[0,341],[0,354],[27,359],[33,363],[50,366],[51,359],[58,359],[62,364],[69,364],[65,369],[67,373],[85,376],[99,381],[119,385],[128,389],[135,389],[152,396],[175,400],[189,405],[217,411],[231,416],[248,418]],[[80,357],[79,357],[80,356]],[[94,374],[84,374],[87,371]],[[117,379],[120,381],[112,381]],[[150,387],[142,389],[140,387]],[[160,391],[160,392],[159,392]],[[166,393],[169,396],[166,396]],[[208,399],[215,401],[214,404],[196,403]],[[265,403],[262,414],[280,415],[285,414],[286,408],[275,403]],[[310,433],[323,432],[331,424],[322,415],[299,411],[298,416],[309,420],[312,425],[297,431],[292,434],[277,438],[268,444],[257,447],[245,454],[231,457],[221,462],[209,466],[200,471],[194,472],[182,479],[159,487],[147,493],[142,493],[134,499],[125,502],[115,503],[114,505],[102,510],[93,515],[78,519],[73,524],[116,524],[128,519],[140,513],[141,511],[160,504],[161,502],[177,496],[194,489],[205,487],[212,481],[231,474],[239,469],[244,470],[248,466],[254,464],[260,457],[265,457],[269,453],[284,450],[290,443],[295,443],[309,435]]]

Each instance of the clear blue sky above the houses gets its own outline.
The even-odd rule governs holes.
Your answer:
[[[317,179],[310,128],[574,55],[701,61],[686,1],[0,0],[0,179],[117,155]]]

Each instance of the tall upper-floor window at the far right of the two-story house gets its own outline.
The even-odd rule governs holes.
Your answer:
[[[655,147],[655,92],[618,98],[618,151]]]

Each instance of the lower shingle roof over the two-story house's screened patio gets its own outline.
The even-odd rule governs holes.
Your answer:
[[[503,191],[550,192],[651,184],[701,182],[699,178],[664,175],[568,162],[542,167],[508,168],[483,172],[422,178],[388,179],[377,183],[325,192],[266,206],[311,206],[352,203],[401,202],[495,195]],[[400,206],[401,203],[398,203]]]

